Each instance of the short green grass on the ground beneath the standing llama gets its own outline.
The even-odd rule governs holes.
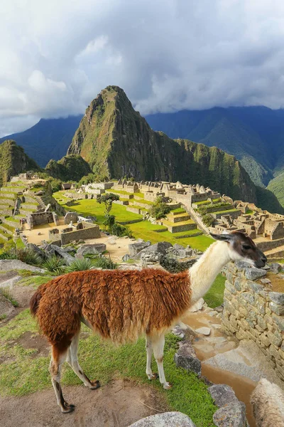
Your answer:
[[[50,388],[48,373],[49,357],[34,357],[35,349],[25,349],[11,340],[20,338],[25,332],[37,334],[35,320],[28,310],[21,312],[8,325],[0,328],[1,356],[10,357],[0,365],[1,396],[23,396],[38,390]],[[173,362],[178,339],[168,334],[165,340],[164,365],[167,380],[173,389],[165,391],[158,381],[148,381],[146,369],[145,341],[115,347],[111,342],[102,341],[83,327],[84,339],[79,346],[80,364],[91,379],[100,379],[102,386],[111,379],[123,377],[138,384],[148,384],[164,397],[168,406],[175,411],[187,413],[197,427],[213,427],[212,416],[217,410],[209,396],[207,386],[195,374],[177,368]],[[155,362],[153,362],[153,367]],[[156,371],[156,369],[155,369]],[[65,364],[62,369],[62,385],[82,384],[72,369]],[[63,389],[64,392],[64,389]],[[72,404],[76,404],[73,401]]]

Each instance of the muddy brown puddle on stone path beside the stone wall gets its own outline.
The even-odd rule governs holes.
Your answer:
[[[191,337],[195,353],[201,361],[214,357],[216,354],[227,352],[238,347],[238,342],[232,337],[226,337],[221,330],[221,320],[209,316],[206,312],[188,313],[182,322],[195,331],[200,327],[209,327],[211,332],[208,336],[194,333]],[[246,417],[250,427],[255,427],[250,404],[251,393],[256,383],[244,376],[224,371],[212,365],[202,364],[202,375],[206,376],[214,384],[227,384],[234,390],[237,398],[246,405]]]

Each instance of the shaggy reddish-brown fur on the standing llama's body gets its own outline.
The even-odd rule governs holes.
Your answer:
[[[190,307],[188,272],[163,270],[80,271],[40,286],[31,312],[50,344],[69,340],[86,320],[113,342],[163,333]]]

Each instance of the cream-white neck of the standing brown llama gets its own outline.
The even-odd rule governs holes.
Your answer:
[[[229,263],[228,243],[215,242],[200,259],[190,268],[190,288],[192,291],[192,302],[199,300],[209,290],[217,274],[224,265]]]

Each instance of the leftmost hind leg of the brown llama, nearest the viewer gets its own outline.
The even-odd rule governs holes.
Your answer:
[[[58,405],[60,406],[60,409],[63,413],[72,412],[75,408],[75,405],[67,404],[67,402],[65,401],[62,395],[62,389],[60,384],[62,364],[65,362],[67,357],[67,345],[53,345],[53,352],[49,366],[51,381],[53,383],[53,389],[55,391],[56,400],[58,401]]]

